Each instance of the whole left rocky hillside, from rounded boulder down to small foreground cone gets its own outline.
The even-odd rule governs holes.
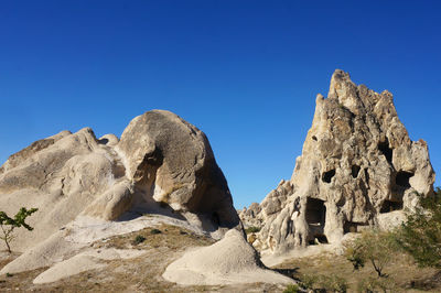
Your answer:
[[[85,128],[11,155],[0,170],[0,210],[20,207],[37,208],[29,218],[34,230],[17,229],[13,254],[0,250],[2,289],[71,291],[82,274],[97,275],[99,286],[84,284],[94,291],[119,291],[121,283],[129,291],[244,283],[280,290],[293,282],[265,268],[246,241],[205,134],[169,111],[136,117],[120,140]]]

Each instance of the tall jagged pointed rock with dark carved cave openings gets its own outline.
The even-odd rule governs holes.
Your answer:
[[[415,192],[430,195],[433,182],[427,143],[409,139],[392,95],[335,70],[327,98],[316,97],[291,180],[240,217],[245,226],[260,223],[254,245],[263,250],[337,242],[347,232],[398,224],[416,205]]]

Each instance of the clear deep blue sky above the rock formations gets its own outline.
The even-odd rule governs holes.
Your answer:
[[[168,109],[207,135],[237,208],[289,178],[335,68],[390,90],[441,166],[440,1],[2,1],[0,161]],[[437,180],[435,185],[441,185]]]

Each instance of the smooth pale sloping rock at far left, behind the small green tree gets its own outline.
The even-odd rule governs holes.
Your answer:
[[[112,162],[90,129],[58,135],[44,149],[12,155],[0,174],[1,210],[14,215],[20,207],[39,208],[29,218],[33,231],[17,229],[14,250],[24,251],[46,239],[112,186]],[[10,164],[11,159],[20,163]]]

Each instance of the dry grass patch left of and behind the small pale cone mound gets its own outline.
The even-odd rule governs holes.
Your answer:
[[[116,236],[93,243],[94,248],[140,249],[147,253],[130,260],[107,261],[107,268],[87,271],[54,283],[34,285],[32,280],[44,269],[0,276],[0,292],[281,292],[283,286],[271,284],[239,284],[218,286],[181,286],[161,278],[165,268],[190,247],[208,246],[213,239],[195,235],[180,227],[162,225]],[[141,243],[137,236],[146,238]],[[15,256],[17,257],[17,256]],[[3,259],[0,268],[11,261]]]

